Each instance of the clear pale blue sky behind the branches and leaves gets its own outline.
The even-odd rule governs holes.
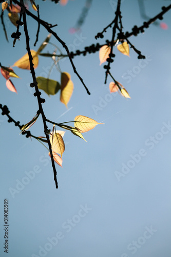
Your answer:
[[[40,4],[41,19],[58,24],[54,31],[70,50],[83,50],[92,43],[104,44],[111,39],[111,29],[104,39],[94,35],[102,31],[114,17],[116,1],[92,2],[81,32],[69,34],[84,7],[85,1],[69,1],[65,7],[50,1]],[[150,17],[170,1],[144,1]],[[137,0],[122,1],[124,31],[141,26]],[[6,116],[0,117],[1,130],[1,217],[4,199],[9,205],[8,256],[107,256],[136,257],[170,256],[170,11],[163,21],[167,30],[150,25],[144,34],[130,41],[146,56],[137,59],[130,49],[130,58],[114,49],[116,58],[111,74],[127,89],[131,99],[109,93],[110,78],[104,84],[105,70],[99,65],[99,54],[75,57],[73,62],[91,95],[73,73],[70,62],[60,63],[69,72],[74,91],[65,105],[59,94],[46,98],[45,115],[54,122],[74,120],[84,115],[103,122],[85,133],[85,142],[68,131],[65,133],[63,169],[56,165],[59,189],[55,189],[48,151],[36,140],[19,135],[20,131]],[[24,31],[15,48],[10,34],[15,27],[5,20],[9,43],[1,26],[1,63],[12,65],[26,53]],[[22,28],[23,29],[23,28]],[[37,50],[47,36],[41,27],[39,42],[34,47],[37,25],[28,17],[31,49]],[[76,40],[77,39],[77,40]],[[53,38],[64,53],[63,47]],[[44,52],[52,52],[51,45]],[[40,57],[36,76],[47,76],[51,60]],[[12,78],[18,94],[9,91],[1,76],[1,103],[11,116],[22,124],[34,117],[37,101],[28,70],[14,67],[22,79]],[[53,69],[51,79],[60,81]],[[48,125],[52,129],[51,124]],[[43,136],[39,118],[30,129]],[[29,178],[30,176],[30,178]],[[24,183],[23,183],[24,181]],[[27,184],[27,185],[26,185]],[[16,190],[16,191],[13,191]],[[14,192],[14,193],[12,193]],[[4,221],[1,218],[1,256]]]

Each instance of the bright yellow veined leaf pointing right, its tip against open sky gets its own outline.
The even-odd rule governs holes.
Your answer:
[[[103,123],[99,123],[96,120],[90,119],[82,115],[76,116],[74,119],[75,128],[78,128],[78,130],[82,133],[92,130],[92,128],[94,128],[98,124]]]

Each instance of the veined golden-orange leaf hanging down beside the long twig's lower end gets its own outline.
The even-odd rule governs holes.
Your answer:
[[[65,144],[64,140],[61,136],[61,134],[56,133],[55,131],[53,132],[53,135],[50,137],[50,143],[52,146],[52,150],[56,154],[60,154],[62,158],[62,154],[65,151]]]

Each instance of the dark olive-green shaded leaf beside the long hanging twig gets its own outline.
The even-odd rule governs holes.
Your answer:
[[[44,90],[48,95],[55,95],[61,89],[60,83],[55,80],[37,77],[36,81],[38,83],[39,89]]]

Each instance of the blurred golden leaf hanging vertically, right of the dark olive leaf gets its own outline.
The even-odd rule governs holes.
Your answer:
[[[73,92],[73,82],[70,80],[71,76],[68,72],[62,72],[61,74],[61,102],[65,104],[66,107]]]

